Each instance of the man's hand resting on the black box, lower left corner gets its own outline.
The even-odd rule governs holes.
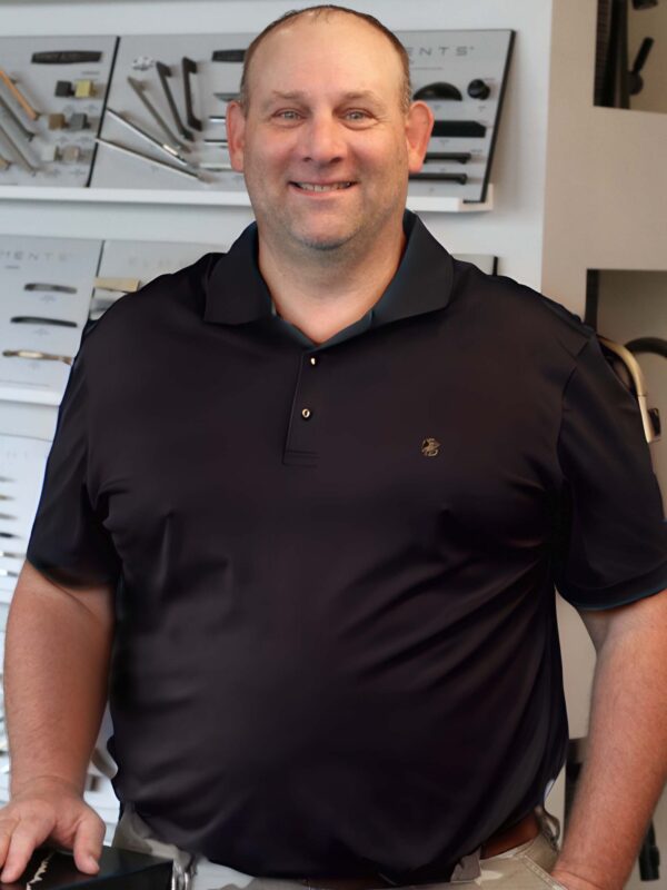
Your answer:
[[[0,880],[18,880],[47,840],[73,850],[79,871],[96,874],[103,839],[104,823],[73,785],[57,778],[34,779],[0,810]]]

